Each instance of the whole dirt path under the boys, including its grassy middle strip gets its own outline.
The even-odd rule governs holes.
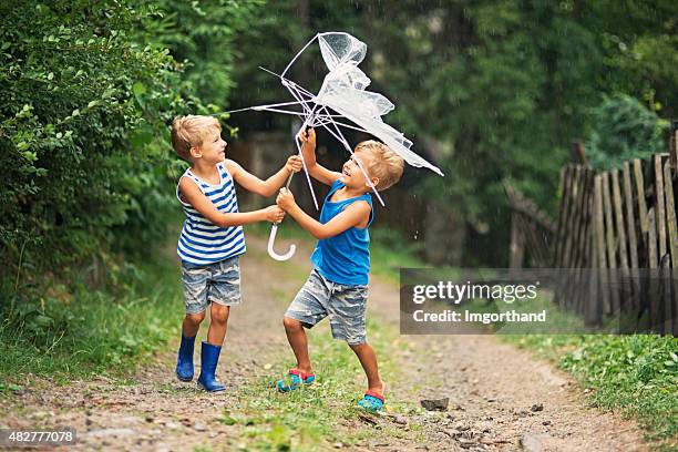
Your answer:
[[[71,425],[80,442],[68,450],[83,451],[647,449],[634,423],[587,408],[567,377],[525,351],[492,337],[399,336],[398,288],[379,278],[370,285],[368,337],[389,382],[387,412],[355,408],[364,377],[327,325],[309,335],[318,382],[277,394],[270,380],[292,359],[281,316],[307,276],[309,249],[280,264],[264,245],[250,236],[243,259],[245,304],[232,311],[219,364],[225,392],[175,380],[174,340],[134,378],[37,379],[6,393],[0,427]],[[176,306],[178,280],[168,294]],[[450,409],[424,411],[422,398],[449,398]]]

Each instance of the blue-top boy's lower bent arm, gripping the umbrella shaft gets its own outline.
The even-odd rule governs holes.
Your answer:
[[[295,222],[299,224],[304,229],[308,230],[314,237],[323,239],[333,237],[345,230],[353,227],[363,225],[367,226],[367,220],[370,217],[370,205],[366,201],[358,201],[351,203],[343,209],[339,215],[322,224],[308,215],[295,202],[295,197],[291,192],[287,188],[281,188],[276,203],[285,212],[287,212]]]

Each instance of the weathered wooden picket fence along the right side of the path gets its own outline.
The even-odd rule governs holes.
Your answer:
[[[678,332],[678,130],[670,153],[596,173],[585,163],[561,170],[557,226],[506,191],[513,210],[511,265],[536,249],[531,265],[564,269],[555,301],[588,325],[609,319],[629,330]],[[551,235],[553,232],[553,235]],[[541,239],[540,239],[541,237]],[[546,249],[545,249],[546,248]],[[551,256],[546,264],[544,256]]]

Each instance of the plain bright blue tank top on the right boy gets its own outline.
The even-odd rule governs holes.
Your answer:
[[[333,237],[318,240],[318,245],[316,245],[311,255],[311,263],[322,277],[332,282],[349,286],[366,285],[370,273],[370,233],[368,228],[374,217],[372,198],[369,193],[366,193],[349,199],[330,201],[335,192],[343,186],[345,184],[341,182],[335,181],[330,187],[320,212],[320,223],[326,224],[351,203],[367,201],[370,205],[368,225],[362,229],[353,226]]]

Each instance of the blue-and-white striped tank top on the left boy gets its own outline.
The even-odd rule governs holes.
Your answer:
[[[230,177],[224,162],[217,164],[217,170],[219,172],[219,184],[217,185],[208,184],[198,178],[191,170],[186,170],[182,177],[193,179],[219,212],[225,214],[237,213],[238,201],[236,199],[233,177]],[[195,265],[209,265],[245,253],[243,226],[216,226],[191,204],[184,202],[181,195],[177,185],[176,197],[186,213],[176,249],[182,260]]]

